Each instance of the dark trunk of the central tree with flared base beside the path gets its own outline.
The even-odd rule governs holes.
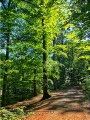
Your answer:
[[[42,27],[44,27],[44,19],[42,19]],[[47,41],[45,38],[45,33],[44,33],[44,29],[43,29],[43,35],[42,35],[42,39],[43,39],[43,97],[42,100],[47,99],[49,97],[51,97],[51,95],[49,95],[48,93],[48,78],[47,78],[47,68],[46,68],[46,61],[47,61]]]

